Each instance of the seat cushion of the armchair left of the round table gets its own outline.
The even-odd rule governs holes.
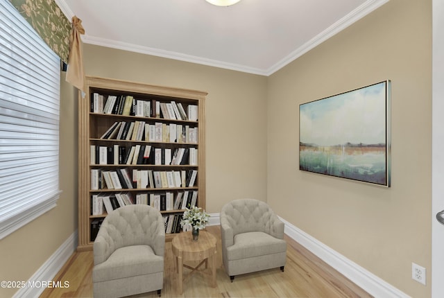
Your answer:
[[[92,280],[109,281],[163,270],[163,256],[156,256],[148,245],[133,245],[117,249],[108,260],[94,266]]]

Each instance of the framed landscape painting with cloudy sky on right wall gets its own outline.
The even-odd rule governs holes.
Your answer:
[[[299,169],[390,186],[390,80],[299,106]]]

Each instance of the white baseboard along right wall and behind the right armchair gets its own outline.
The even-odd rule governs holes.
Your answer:
[[[357,263],[350,261],[348,258],[345,258],[345,256],[334,251],[327,245],[309,236],[309,234],[298,229],[294,225],[291,225],[287,220],[284,220],[283,218],[280,218],[280,220],[284,222],[284,232],[287,236],[300,243],[300,245],[307,248],[311,253],[318,256],[318,258],[321,258],[321,260],[332,266],[332,268],[343,274],[373,297],[409,297],[409,295],[401,292],[389,283],[386,283],[386,281],[357,265]],[[220,225],[220,222],[220,213],[210,214],[208,225]]]

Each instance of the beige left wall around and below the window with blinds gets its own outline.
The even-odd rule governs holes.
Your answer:
[[[57,206],[0,240],[0,280],[27,281],[77,229],[77,104],[62,73],[60,189]],[[0,288],[0,297],[18,289]]]

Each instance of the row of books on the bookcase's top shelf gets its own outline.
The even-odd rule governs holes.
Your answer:
[[[182,103],[161,102],[159,100],[136,99],[131,95],[91,94],[91,112],[100,114],[117,114],[123,116],[139,116],[164,118],[172,120],[197,121],[197,105],[187,105],[187,112]]]

